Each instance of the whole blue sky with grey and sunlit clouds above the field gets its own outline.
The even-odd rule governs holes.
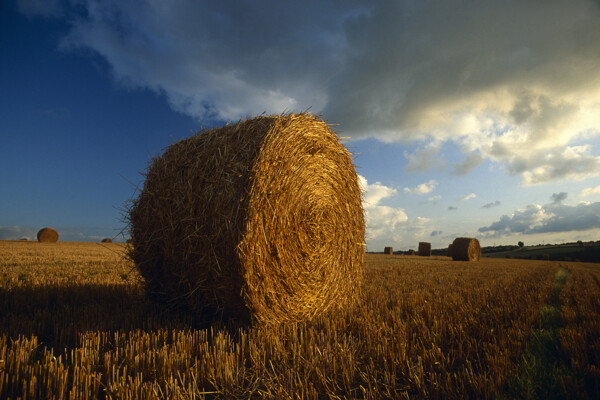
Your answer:
[[[0,239],[128,237],[150,159],[309,110],[367,248],[600,240],[600,1],[0,2]]]

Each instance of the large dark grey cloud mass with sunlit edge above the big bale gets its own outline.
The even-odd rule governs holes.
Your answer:
[[[600,170],[578,144],[600,132],[593,0],[74,3],[63,50],[199,119],[311,108],[345,136],[422,143],[407,171],[439,167],[444,142],[465,154],[456,175],[483,160],[525,185]],[[57,17],[48,4],[19,1]]]

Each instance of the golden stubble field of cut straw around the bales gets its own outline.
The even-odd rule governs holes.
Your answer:
[[[598,264],[367,254],[359,304],[250,328],[150,303],[123,254],[0,241],[0,398],[600,395]]]

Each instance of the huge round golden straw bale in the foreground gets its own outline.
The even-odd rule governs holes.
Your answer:
[[[310,319],[356,298],[365,224],[348,150],[314,115],[260,116],[151,161],[129,210],[155,299],[202,318]]]

